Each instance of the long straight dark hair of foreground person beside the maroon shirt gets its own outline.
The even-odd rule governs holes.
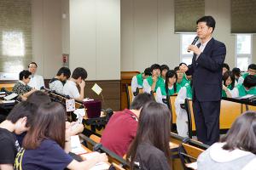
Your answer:
[[[137,135],[131,143],[127,153],[127,161],[131,161],[131,170],[134,168],[134,161],[137,156],[139,144],[148,143],[162,150],[166,159],[171,165],[171,153],[169,141],[171,138],[171,113],[166,105],[150,102],[143,106],[141,111]]]

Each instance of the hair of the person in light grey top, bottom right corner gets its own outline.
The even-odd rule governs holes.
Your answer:
[[[220,139],[224,150],[245,150],[256,154],[256,112],[247,111],[232,124],[229,132]]]

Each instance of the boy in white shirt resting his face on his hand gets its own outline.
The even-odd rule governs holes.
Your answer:
[[[72,77],[67,80],[63,87],[63,94],[69,95],[69,97],[83,100],[84,99],[84,86],[85,82],[84,80],[87,78],[87,71],[84,70],[82,67],[77,67],[72,74]],[[80,93],[79,89],[77,88],[77,84],[80,87]]]

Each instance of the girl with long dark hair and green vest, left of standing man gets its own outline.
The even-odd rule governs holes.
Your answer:
[[[166,82],[156,90],[155,101],[167,105],[167,96],[177,94],[180,86],[177,85],[177,74],[175,71],[166,72]]]

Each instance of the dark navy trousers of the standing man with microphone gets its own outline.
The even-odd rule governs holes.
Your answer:
[[[211,145],[219,139],[220,101],[193,100],[197,139]]]

